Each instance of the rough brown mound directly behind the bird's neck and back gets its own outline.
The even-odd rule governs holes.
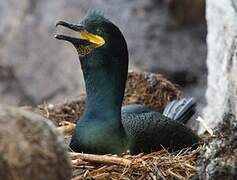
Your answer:
[[[128,73],[124,105],[143,104],[155,111],[163,111],[172,100],[180,97],[180,91],[160,74],[149,72]]]

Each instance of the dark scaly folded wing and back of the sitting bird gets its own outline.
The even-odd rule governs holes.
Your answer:
[[[124,113],[122,124],[131,142],[129,149],[132,154],[152,152],[161,145],[179,150],[198,141],[190,129],[159,112]]]

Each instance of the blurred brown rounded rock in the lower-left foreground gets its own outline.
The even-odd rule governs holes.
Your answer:
[[[4,180],[69,180],[61,135],[35,113],[0,106],[0,177]]]

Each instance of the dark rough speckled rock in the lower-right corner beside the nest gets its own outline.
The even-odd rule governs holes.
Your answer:
[[[196,179],[228,179],[237,177],[237,120],[225,114],[214,129],[214,136],[205,142],[198,159]]]

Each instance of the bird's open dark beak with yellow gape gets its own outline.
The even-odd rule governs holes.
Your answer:
[[[73,31],[79,32],[79,34],[80,34],[80,38],[71,37],[71,36],[62,35],[62,34],[56,34],[55,38],[57,38],[59,40],[69,41],[72,44],[77,45],[77,46],[78,45],[80,45],[80,46],[93,45],[94,47],[100,47],[100,46],[104,45],[104,43],[105,43],[105,40],[101,36],[98,36],[98,35],[88,32],[86,30],[85,26],[83,26],[81,24],[70,24],[65,21],[58,21],[56,23],[56,26],[59,26],[59,25],[69,28]]]

